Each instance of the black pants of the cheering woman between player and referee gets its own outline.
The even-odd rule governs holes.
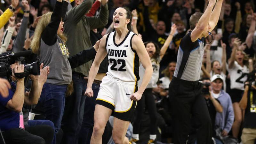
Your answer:
[[[137,107],[135,108],[136,117],[133,123],[133,133],[140,133],[140,123],[144,113],[144,108],[148,109],[148,114],[150,116],[150,134],[156,134],[156,103],[152,94],[152,89],[146,89],[141,99],[137,102]]]

